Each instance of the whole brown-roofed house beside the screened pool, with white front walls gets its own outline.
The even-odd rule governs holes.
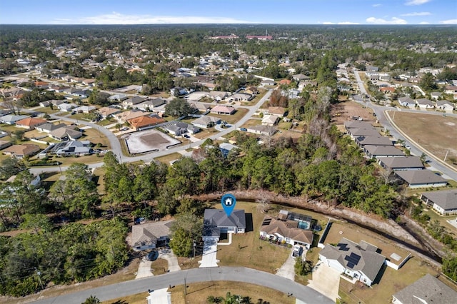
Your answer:
[[[265,216],[260,227],[260,236],[267,240],[303,245],[309,249],[313,243],[313,232],[298,228],[298,221],[280,220]]]

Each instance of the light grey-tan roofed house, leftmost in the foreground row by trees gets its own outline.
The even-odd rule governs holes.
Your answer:
[[[129,245],[135,251],[154,249],[166,245],[174,220],[134,225],[131,227]]]

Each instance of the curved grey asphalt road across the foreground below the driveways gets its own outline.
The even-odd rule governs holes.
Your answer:
[[[136,293],[145,293],[149,289],[168,288],[169,285],[183,285],[184,280],[187,283],[197,282],[212,282],[216,280],[246,282],[256,285],[265,286],[279,290],[282,293],[292,293],[293,297],[302,300],[305,303],[334,303],[326,296],[318,293],[316,290],[308,288],[304,285],[293,282],[286,278],[263,271],[254,270],[243,267],[221,267],[221,268],[194,268],[190,270],[180,270],[174,273],[166,273],[164,275],[155,275],[149,278],[139,280],[129,280],[123,283],[106,285],[99,288],[79,291],[60,295],[55,298],[47,298],[38,300],[34,303],[50,304],[50,303],[66,303],[80,304],[84,302],[90,295],[95,295],[101,301],[112,300],[115,298],[125,297],[126,295],[134,295]],[[230,290],[230,285],[227,286]],[[261,298],[261,295],[255,295]]]

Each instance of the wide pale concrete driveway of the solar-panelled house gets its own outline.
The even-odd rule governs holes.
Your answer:
[[[309,288],[326,295],[327,298],[336,301],[339,299],[340,273],[330,266],[320,262],[313,268],[313,280],[309,280]]]

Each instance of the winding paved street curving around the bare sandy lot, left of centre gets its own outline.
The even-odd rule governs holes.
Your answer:
[[[230,133],[231,131],[236,130],[236,126],[241,126],[243,123],[246,123],[246,121],[248,121],[248,119],[251,118],[251,116],[253,116],[253,113],[256,113],[258,108],[260,108],[261,105],[271,96],[272,92],[273,92],[273,89],[271,89],[268,92],[266,92],[265,95],[261,98],[261,100],[258,101],[258,103],[256,103],[254,106],[240,106],[239,108],[247,108],[248,109],[248,113],[246,113],[246,115],[243,116],[243,118],[241,118],[235,124],[231,125],[230,128],[221,129],[222,130],[221,132],[216,133],[214,136],[211,136],[210,138],[211,139],[220,138],[220,137]],[[121,151],[121,143],[119,142],[119,139],[111,131],[109,131],[108,129],[106,129],[104,127],[101,127],[101,126],[97,125],[96,123],[90,123],[88,121],[81,121],[81,120],[76,121],[76,119],[70,118],[70,117],[66,117],[66,116],[57,116],[57,115],[53,114],[53,115],[51,115],[51,118],[53,118],[53,119],[61,119],[61,120],[64,120],[64,121],[69,121],[71,123],[79,123],[79,124],[83,124],[83,125],[86,125],[86,126],[91,126],[92,128],[95,128],[96,130],[99,130],[99,132],[104,133],[104,135],[106,137],[108,137],[109,142],[111,144],[111,151],[113,151],[113,153],[116,155],[117,159],[119,161],[123,162],[123,163],[131,163],[131,162],[134,162],[134,161],[144,161],[145,163],[149,163],[149,162],[153,161],[154,158],[158,158],[158,157],[161,157],[161,156],[166,156],[166,155],[174,153],[174,152],[179,152],[179,151],[184,150],[185,148],[193,148],[193,147],[196,147],[196,146],[200,146],[201,143],[204,142],[204,139],[203,139],[203,140],[200,140],[200,141],[194,141],[193,143],[190,143],[189,146],[187,146],[187,145],[186,146],[182,146],[182,145],[181,146],[176,146],[174,148],[168,148],[168,149],[162,150],[162,151],[147,153],[147,154],[144,154],[144,155],[141,155],[141,156],[124,156],[122,154],[122,151]],[[103,165],[103,162],[101,162],[101,163],[91,163],[88,166],[89,166],[89,168],[98,168],[98,167],[101,167],[102,165]],[[66,168],[68,168],[68,167],[67,166],[61,166],[61,168],[58,168],[58,167],[31,168],[30,171],[32,173],[43,173],[43,172],[59,171],[60,169],[62,171],[64,171],[64,170],[66,170]]]

